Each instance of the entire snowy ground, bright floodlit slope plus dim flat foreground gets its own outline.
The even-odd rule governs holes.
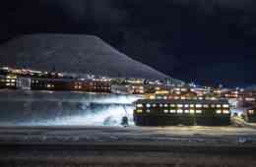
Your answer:
[[[256,166],[256,125],[120,127],[138,96],[0,93],[0,166]]]

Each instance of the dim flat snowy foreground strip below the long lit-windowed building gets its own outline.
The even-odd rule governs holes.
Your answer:
[[[0,166],[256,166],[256,130],[235,127],[0,129]]]

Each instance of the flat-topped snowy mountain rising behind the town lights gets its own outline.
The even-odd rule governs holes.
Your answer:
[[[165,79],[92,35],[30,34],[0,46],[0,65],[109,77]]]

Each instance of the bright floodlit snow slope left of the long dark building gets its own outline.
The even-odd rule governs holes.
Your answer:
[[[133,125],[133,102],[139,96],[85,92],[1,90],[0,126]]]

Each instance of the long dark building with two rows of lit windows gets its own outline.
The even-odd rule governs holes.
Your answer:
[[[137,126],[230,124],[227,100],[140,99],[135,103]]]

